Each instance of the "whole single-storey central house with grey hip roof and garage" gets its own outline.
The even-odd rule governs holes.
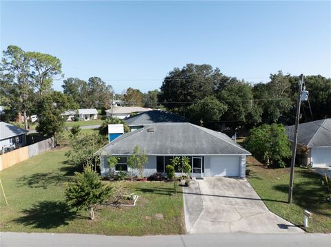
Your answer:
[[[251,155],[225,134],[188,122],[150,125],[124,133],[97,153],[100,155],[101,175],[110,172],[107,159],[118,156],[115,171],[128,171],[127,159],[138,145],[148,155],[143,175],[165,174],[165,167],[174,156],[188,156],[192,177],[245,177],[246,156]],[[137,170],[132,171],[138,175]],[[181,171],[177,169],[177,175]]]

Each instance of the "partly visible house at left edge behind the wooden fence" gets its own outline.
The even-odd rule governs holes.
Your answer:
[[[26,129],[7,122],[0,122],[0,153],[6,153],[26,145]]]

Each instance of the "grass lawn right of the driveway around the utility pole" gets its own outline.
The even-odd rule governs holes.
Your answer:
[[[297,167],[294,174],[293,203],[288,204],[289,168],[266,169],[253,157],[249,157],[247,169],[252,174],[248,176],[248,181],[270,211],[302,227],[303,211],[307,209],[313,213],[307,231],[331,233],[331,203],[326,200],[320,175]]]

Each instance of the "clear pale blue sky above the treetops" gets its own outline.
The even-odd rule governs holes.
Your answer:
[[[65,78],[99,76],[117,93],[159,88],[186,63],[254,83],[279,69],[330,77],[331,3],[1,1],[1,50],[11,44],[57,56]]]

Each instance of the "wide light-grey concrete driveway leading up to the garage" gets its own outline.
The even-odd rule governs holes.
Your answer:
[[[188,233],[303,233],[271,213],[247,180],[205,178],[183,188]]]

